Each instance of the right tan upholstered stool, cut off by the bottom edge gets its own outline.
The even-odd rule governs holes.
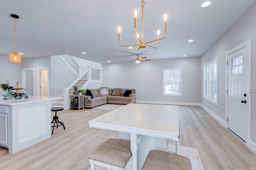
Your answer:
[[[192,170],[192,164],[180,154],[150,150],[141,170]]]

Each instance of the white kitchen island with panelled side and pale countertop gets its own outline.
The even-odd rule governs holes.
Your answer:
[[[61,97],[0,98],[0,146],[15,153],[51,137],[51,100]]]

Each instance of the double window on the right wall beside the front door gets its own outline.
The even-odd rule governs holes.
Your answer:
[[[204,99],[218,106],[218,57],[204,64]]]

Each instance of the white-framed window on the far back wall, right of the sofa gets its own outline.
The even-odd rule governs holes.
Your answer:
[[[181,68],[163,68],[163,96],[181,95]]]

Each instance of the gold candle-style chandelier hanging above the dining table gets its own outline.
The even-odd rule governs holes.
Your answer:
[[[144,42],[144,21],[143,21],[143,13],[144,13],[144,10],[143,10],[143,7],[145,5],[145,2],[144,0],[142,0],[142,2],[140,2],[140,5],[142,6],[142,31],[141,31],[141,39],[139,38],[139,34],[136,32],[136,29],[137,29],[137,10],[134,11],[134,35],[137,39],[137,43],[136,44],[130,44],[130,45],[121,45],[121,27],[119,26],[118,27],[118,39],[119,39],[119,45],[120,47],[125,47],[125,46],[132,46],[132,45],[137,45],[137,49],[143,49],[143,48],[146,48],[146,46],[149,46],[149,47],[153,47],[153,48],[156,48],[158,49],[159,48],[159,40],[161,39],[164,39],[165,38],[165,35],[166,35],[166,20],[167,20],[167,14],[164,14],[164,37],[162,38],[159,38],[159,35],[160,35],[160,31],[158,29],[157,31],[157,39],[155,40],[152,40],[152,41],[148,41],[148,42]],[[148,43],[152,43],[154,41],[157,41],[157,47],[154,47],[152,45],[149,45]]]

